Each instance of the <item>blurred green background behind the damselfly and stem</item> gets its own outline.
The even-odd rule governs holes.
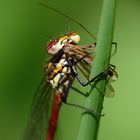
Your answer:
[[[97,34],[102,0],[40,0],[77,19]],[[119,73],[113,83],[116,97],[105,98],[98,140],[140,139],[140,1],[118,0],[114,41],[117,54],[111,59]],[[33,95],[43,75],[47,57],[46,35],[59,37],[76,31],[81,44],[92,38],[79,26],[38,4],[38,0],[0,0],[0,140],[21,140]],[[71,98],[82,100],[79,95]],[[58,140],[75,140],[81,111],[64,105]]]

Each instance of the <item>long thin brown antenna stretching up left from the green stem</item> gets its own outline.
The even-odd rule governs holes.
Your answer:
[[[65,14],[62,13],[61,11],[59,11],[59,10],[57,10],[57,9],[55,9],[55,8],[53,8],[53,7],[49,6],[49,5],[47,5],[47,4],[44,4],[44,3],[42,3],[42,2],[38,2],[38,3],[39,3],[40,5],[42,5],[42,6],[44,6],[44,7],[47,7],[48,9],[51,9],[51,10],[55,11],[56,13],[59,13],[60,15],[64,16],[65,18],[67,18],[67,19],[73,21],[74,23],[76,23],[77,25],[79,25],[83,30],[85,30],[92,38],[94,38],[95,40],[97,40],[96,36],[95,36],[94,34],[92,34],[91,32],[89,32],[89,31],[87,30],[87,28],[86,28],[84,25],[82,25],[80,22],[78,22],[77,20],[75,20],[75,19],[69,17],[68,15],[65,15]]]

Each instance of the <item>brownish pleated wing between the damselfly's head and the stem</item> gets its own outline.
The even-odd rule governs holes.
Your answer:
[[[64,48],[65,54],[68,57],[72,57],[72,59],[74,60],[73,65],[75,66],[77,73],[80,75],[81,79],[86,80],[85,82],[89,80],[91,63],[94,59],[94,51],[94,44],[87,46],[67,44]]]

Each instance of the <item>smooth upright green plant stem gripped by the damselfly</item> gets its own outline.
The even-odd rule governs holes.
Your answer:
[[[94,77],[108,69],[113,39],[115,4],[115,0],[103,1],[99,32],[97,36],[96,57],[92,64],[90,77]],[[101,94],[104,94],[105,92],[106,80],[99,81],[96,84],[96,87],[100,92],[97,88],[93,88],[92,93],[90,93],[85,100],[85,107],[93,108],[97,112],[101,113],[104,100]],[[89,86],[88,91],[91,91],[91,87],[89,89]],[[99,120],[100,117],[99,119],[96,119],[92,114],[83,112],[77,140],[96,140]]]

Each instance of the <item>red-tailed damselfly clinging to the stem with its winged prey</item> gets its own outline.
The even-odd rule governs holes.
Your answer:
[[[64,16],[66,17],[66,15]],[[62,103],[87,110],[95,116],[100,115],[93,109],[88,109],[67,101],[68,93],[74,79],[81,86],[87,86],[102,76],[107,75],[107,90],[109,91],[107,95],[114,95],[114,90],[110,82],[117,79],[115,66],[109,65],[108,70],[89,79],[91,63],[94,61],[93,53],[96,49],[96,43],[79,46],[77,45],[79,41],[80,35],[76,32],[69,32],[48,43],[46,50],[52,55],[52,58],[44,66],[44,77],[34,97],[33,111],[24,140],[53,140],[57,127],[58,113]],[[78,71],[80,71],[80,74]],[[80,75],[85,77],[86,82]],[[76,88],[74,89],[81,92]],[[82,94],[85,95],[84,93]]]

